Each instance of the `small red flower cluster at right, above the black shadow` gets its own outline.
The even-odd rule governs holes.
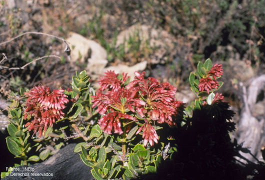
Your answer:
[[[219,84],[216,81],[216,77],[220,77],[222,73],[223,71],[221,64],[214,64],[208,71],[206,77],[201,78],[199,80],[198,84],[199,91],[206,90],[207,93],[209,93],[210,90],[218,88]]]

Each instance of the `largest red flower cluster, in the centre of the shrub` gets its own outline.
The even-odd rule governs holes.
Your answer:
[[[159,83],[153,77],[144,79],[144,73],[135,72],[135,79],[126,85],[129,78],[126,74],[106,72],[99,80],[101,87],[93,96],[92,107],[97,106],[97,112],[103,115],[98,124],[108,134],[112,129],[114,133],[121,134],[131,128],[131,124],[123,127],[121,121],[140,122],[144,119],[142,124],[139,123],[141,126],[137,133],[142,130],[144,145],[148,141],[153,145],[153,141],[157,143],[158,136],[150,122],[174,125],[172,116],[182,113],[183,103],[175,99],[175,87],[167,82]]]

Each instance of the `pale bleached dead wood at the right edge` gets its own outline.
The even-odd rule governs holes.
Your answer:
[[[252,79],[247,91],[243,83],[240,85],[243,90],[244,107],[240,113],[236,139],[238,143],[243,143],[243,147],[249,148],[250,152],[256,156],[258,160],[262,160],[260,149],[263,145],[265,145],[265,117],[264,114],[256,116],[254,111],[256,110],[255,104],[257,96],[265,87],[265,74]],[[256,162],[255,158],[249,153],[241,153],[241,155],[253,162]],[[240,160],[244,161],[242,159]]]

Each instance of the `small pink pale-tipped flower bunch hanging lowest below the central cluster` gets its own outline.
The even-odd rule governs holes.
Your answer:
[[[157,143],[158,135],[154,129],[154,127],[150,123],[144,123],[138,130],[136,131],[135,134],[138,134],[140,131],[142,132],[142,138],[143,140],[143,145],[146,146],[147,142],[149,141],[150,145],[153,145],[153,141]]]

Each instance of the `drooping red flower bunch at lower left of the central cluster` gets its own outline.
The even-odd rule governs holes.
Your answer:
[[[135,120],[134,117],[121,113],[121,112],[110,112],[101,117],[98,120],[98,124],[100,125],[100,128],[103,130],[103,132],[111,134],[112,127],[114,127],[114,133],[121,134],[123,131],[121,130],[121,123],[120,123],[120,118],[124,119],[130,119],[130,120]]]

